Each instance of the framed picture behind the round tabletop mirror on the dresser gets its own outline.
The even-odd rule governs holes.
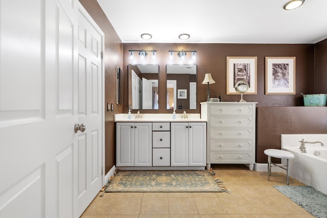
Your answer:
[[[227,57],[226,94],[240,94],[235,85],[241,80],[249,84],[244,94],[256,94],[256,57]]]

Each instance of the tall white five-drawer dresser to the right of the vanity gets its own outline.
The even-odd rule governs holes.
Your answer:
[[[202,102],[201,119],[207,119],[206,167],[212,163],[255,162],[256,102]]]

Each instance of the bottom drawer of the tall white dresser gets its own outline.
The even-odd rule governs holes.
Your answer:
[[[240,152],[240,153],[211,152],[210,162],[211,163],[251,163],[252,153],[251,152]]]

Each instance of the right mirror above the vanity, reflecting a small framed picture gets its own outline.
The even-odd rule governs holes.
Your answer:
[[[197,65],[166,65],[167,109],[196,109]]]

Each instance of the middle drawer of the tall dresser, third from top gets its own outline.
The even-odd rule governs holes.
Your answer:
[[[226,138],[226,139],[238,139],[238,138],[252,138],[252,129],[219,129],[211,128],[210,138]]]

